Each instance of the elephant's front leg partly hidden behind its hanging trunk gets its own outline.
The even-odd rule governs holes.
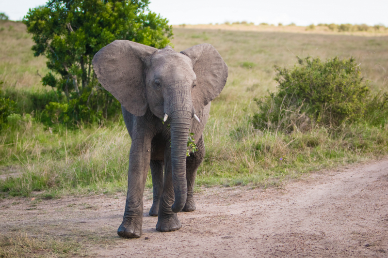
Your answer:
[[[174,203],[174,187],[171,168],[171,148],[167,147],[164,152],[164,186],[159,203],[158,223],[156,230],[167,232],[182,228],[177,213],[171,210]]]

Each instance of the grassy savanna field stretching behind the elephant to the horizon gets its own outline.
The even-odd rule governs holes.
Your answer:
[[[388,153],[384,112],[379,123],[329,127],[313,123],[308,129],[296,124],[291,125],[293,130],[263,129],[252,122],[259,112],[255,99],[274,92],[278,85],[274,65],[292,69],[297,56],[322,61],[353,57],[372,94],[382,95],[388,88],[388,36],[195,27],[173,31],[176,51],[210,43],[229,69],[226,87],[211,103],[197,189],[239,184],[268,187],[310,171]],[[50,99],[53,93],[42,86],[41,76],[49,70],[45,58],[33,57],[32,45],[24,24],[0,24],[1,98],[14,100],[20,112],[0,132],[1,197],[126,192],[130,138],[121,110],[111,119],[76,128],[40,122],[45,96]],[[150,173],[146,186],[152,186]]]

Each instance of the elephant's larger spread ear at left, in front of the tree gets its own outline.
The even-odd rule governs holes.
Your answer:
[[[101,48],[93,58],[93,69],[101,85],[135,116],[146,113],[148,102],[142,58],[156,48],[129,40],[115,40]]]

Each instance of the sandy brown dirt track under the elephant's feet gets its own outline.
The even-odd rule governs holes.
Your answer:
[[[155,230],[144,197],[143,235],[116,235],[125,196],[0,203],[0,228],[83,239],[93,257],[388,257],[388,158],[310,174],[272,189],[204,188],[182,228]],[[104,240],[101,242],[100,240]]]

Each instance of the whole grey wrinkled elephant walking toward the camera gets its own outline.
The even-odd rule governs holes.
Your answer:
[[[157,230],[178,230],[182,225],[177,212],[195,210],[195,176],[205,156],[202,133],[210,101],[225,86],[226,63],[210,44],[178,53],[170,46],[158,50],[116,40],[98,51],[93,65],[101,85],[120,101],[132,139],[127,201],[118,235],[142,235],[149,166],[154,189],[149,214],[158,216]],[[163,124],[164,114],[168,119]],[[194,114],[200,122],[194,120]],[[189,132],[195,135],[198,151],[187,157]]]

